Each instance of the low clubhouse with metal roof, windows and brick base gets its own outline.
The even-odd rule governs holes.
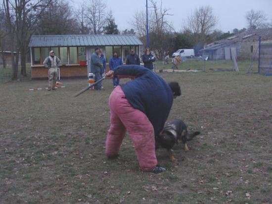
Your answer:
[[[31,51],[32,79],[48,77],[48,70],[43,66],[49,51],[55,51],[60,58],[61,78],[87,77],[90,71],[90,58],[95,47],[99,47],[109,62],[113,51],[117,51],[125,62],[130,49],[140,51],[142,42],[135,35],[44,35],[32,36]]]

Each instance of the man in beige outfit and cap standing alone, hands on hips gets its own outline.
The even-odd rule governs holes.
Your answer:
[[[48,68],[48,91],[56,90],[56,82],[58,77],[57,68],[59,67],[60,59],[55,56],[54,51],[49,52],[49,56],[47,56],[44,60],[44,66]]]

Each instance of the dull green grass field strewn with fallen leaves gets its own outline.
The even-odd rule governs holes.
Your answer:
[[[160,74],[182,89],[168,120],[201,131],[189,152],[174,148],[179,165],[157,151],[168,168],[160,174],[140,170],[128,136],[117,159],[104,155],[110,80],[77,98],[87,80],[61,80],[65,88],[50,92],[28,91],[46,81],[1,83],[0,204],[272,203],[272,78],[245,74],[248,62],[240,72],[208,71],[230,65]]]

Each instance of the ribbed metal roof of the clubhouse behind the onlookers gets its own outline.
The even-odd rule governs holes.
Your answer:
[[[33,35],[29,47],[142,45],[135,35]]]

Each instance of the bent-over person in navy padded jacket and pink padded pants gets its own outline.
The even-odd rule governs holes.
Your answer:
[[[106,155],[118,155],[128,130],[135,146],[140,168],[158,173],[165,171],[157,163],[155,137],[162,131],[173,98],[181,95],[177,82],[166,83],[150,69],[138,65],[121,65],[106,77],[136,77],[117,86],[110,95],[111,126],[106,140]]]

